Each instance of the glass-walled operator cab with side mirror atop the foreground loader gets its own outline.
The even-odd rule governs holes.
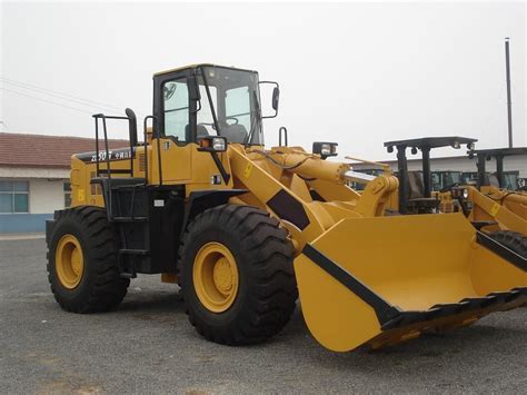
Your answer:
[[[275,85],[275,115],[261,113],[262,83]],[[277,116],[278,97],[278,83],[259,81],[257,71],[216,65],[162,71],[153,76],[155,136],[170,137],[178,145],[218,136],[261,146],[261,120]]]

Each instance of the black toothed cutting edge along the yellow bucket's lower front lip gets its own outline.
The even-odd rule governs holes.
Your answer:
[[[508,309],[508,305],[527,303],[527,287],[514,288],[509,292],[491,293],[484,297],[465,298],[459,303],[439,304],[426,312],[400,312],[396,317],[385,323],[382,330],[400,328],[407,325],[429,322],[458,314],[481,310],[481,316],[490,312]]]

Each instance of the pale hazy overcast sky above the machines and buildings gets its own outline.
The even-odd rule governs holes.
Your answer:
[[[369,159],[394,158],[384,141],[424,136],[505,147],[510,37],[514,144],[527,146],[523,1],[0,7],[0,131],[92,137],[91,113],[151,113],[153,72],[213,62],[280,83],[268,146],[286,126],[289,145],[336,141]]]

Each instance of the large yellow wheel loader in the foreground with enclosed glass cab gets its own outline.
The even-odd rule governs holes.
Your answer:
[[[271,115],[262,83],[275,85]],[[158,274],[180,285],[209,340],[266,340],[299,298],[312,336],[345,352],[527,300],[526,259],[461,213],[386,217],[396,177],[359,195],[346,182],[365,175],[325,160],[336,144],[266,149],[262,119],[278,99],[278,85],[256,71],[196,65],[155,75],[142,142],[133,111],[96,115],[95,151],[71,159],[72,207],[47,223],[59,305],[108,310],[137,274]],[[115,119],[129,124],[130,146],[110,150]]]

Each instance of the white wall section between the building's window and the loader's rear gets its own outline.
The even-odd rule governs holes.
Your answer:
[[[49,214],[64,208],[64,180],[30,179],[29,213]]]

